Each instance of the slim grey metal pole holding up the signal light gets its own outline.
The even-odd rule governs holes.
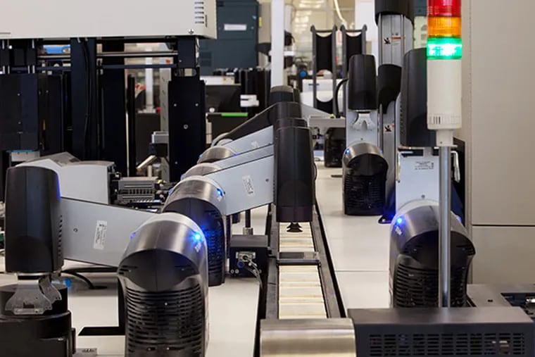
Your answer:
[[[439,221],[439,307],[451,306],[451,148],[441,146]]]

